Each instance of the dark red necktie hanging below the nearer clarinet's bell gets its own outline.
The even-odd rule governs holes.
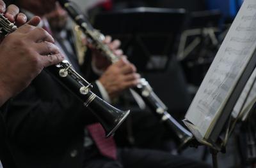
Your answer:
[[[105,157],[116,160],[116,144],[113,137],[105,137],[105,130],[100,123],[95,123],[86,127],[90,132],[100,153]]]

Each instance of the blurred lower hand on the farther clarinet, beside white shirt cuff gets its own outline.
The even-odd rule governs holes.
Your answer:
[[[109,97],[113,99],[125,89],[138,85],[139,79],[140,74],[136,73],[136,67],[122,57],[108,67],[99,81],[108,92]]]

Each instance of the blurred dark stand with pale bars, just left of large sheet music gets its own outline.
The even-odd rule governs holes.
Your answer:
[[[181,60],[189,83],[199,86],[209,69],[219,41],[221,13],[218,10],[192,12],[180,36],[177,59]]]

